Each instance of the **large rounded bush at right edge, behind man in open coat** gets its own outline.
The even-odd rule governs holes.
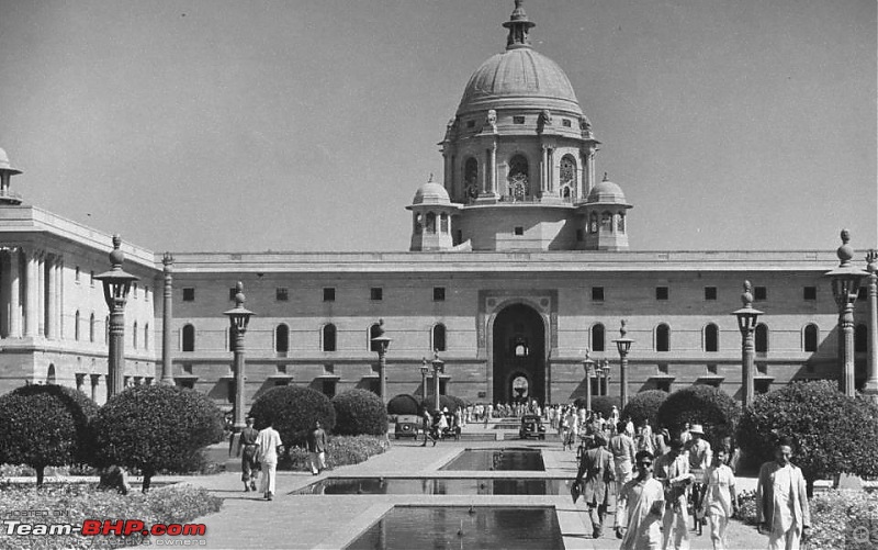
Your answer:
[[[783,437],[796,442],[809,496],[814,481],[840,473],[878,475],[878,407],[847,397],[834,381],[793,382],[757,395],[738,428],[738,441],[759,462],[774,458]]]

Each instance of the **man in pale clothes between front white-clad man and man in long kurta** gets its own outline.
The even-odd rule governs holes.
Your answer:
[[[662,549],[673,540],[675,550],[689,548],[687,489],[693,482],[689,461],[683,454],[683,441],[671,441],[671,451],[655,460],[655,478],[664,485],[665,512],[662,517]]]

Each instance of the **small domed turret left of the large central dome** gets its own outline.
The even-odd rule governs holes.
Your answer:
[[[415,192],[412,204],[412,246],[409,250],[450,250],[454,243],[451,234],[451,215],[458,211],[448,191],[432,180],[424,183]]]

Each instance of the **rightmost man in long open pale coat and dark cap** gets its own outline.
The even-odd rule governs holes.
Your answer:
[[[790,462],[792,441],[781,439],[775,460],[759,469],[756,485],[756,521],[768,531],[769,550],[798,550],[808,538],[811,512],[801,469]]]

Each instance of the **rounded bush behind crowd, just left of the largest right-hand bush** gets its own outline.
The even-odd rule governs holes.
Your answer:
[[[705,438],[713,448],[724,437],[733,436],[741,416],[741,406],[729,394],[707,384],[696,384],[676,391],[658,407],[657,425],[672,434],[683,429],[685,423],[700,424]]]

